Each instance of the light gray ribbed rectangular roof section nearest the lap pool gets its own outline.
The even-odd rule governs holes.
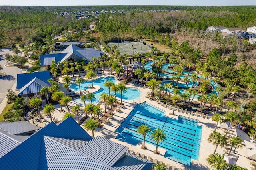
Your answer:
[[[95,147],[97,146],[97,147]],[[89,156],[103,164],[112,166],[124,156],[129,148],[106,138],[97,136],[78,149],[78,152]]]

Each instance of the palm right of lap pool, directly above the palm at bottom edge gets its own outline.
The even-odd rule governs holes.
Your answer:
[[[213,152],[215,154],[217,147],[224,147],[227,144],[228,138],[226,136],[222,136],[219,132],[212,131],[209,138],[207,139],[208,142],[212,142],[212,144],[216,145],[216,148]]]

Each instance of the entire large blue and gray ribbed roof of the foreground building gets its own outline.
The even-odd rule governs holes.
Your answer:
[[[1,169],[151,170],[153,162],[127,153],[127,146],[91,138],[72,117],[45,127],[0,156]]]

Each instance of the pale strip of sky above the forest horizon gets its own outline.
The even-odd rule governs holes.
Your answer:
[[[92,5],[253,5],[256,0],[0,0],[0,6],[92,6]]]

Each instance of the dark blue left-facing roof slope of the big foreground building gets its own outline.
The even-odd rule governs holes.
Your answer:
[[[51,122],[2,156],[0,158],[1,169],[47,169],[46,166],[42,166],[47,161],[42,158],[42,154],[45,155],[44,136],[91,139],[90,135],[72,117],[68,117],[58,126]],[[64,156],[60,153],[58,152],[58,158]]]

